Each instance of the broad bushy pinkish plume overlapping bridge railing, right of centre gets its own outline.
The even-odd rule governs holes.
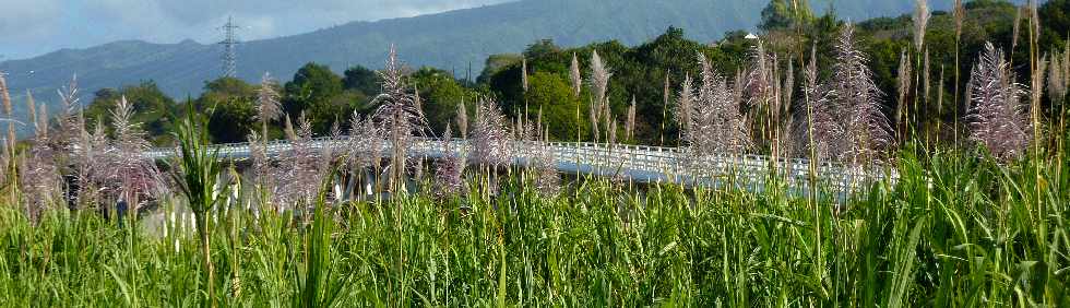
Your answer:
[[[709,59],[702,54],[698,59],[702,68],[702,85],[698,100],[688,110],[691,114],[690,129],[685,134],[688,156],[692,164],[697,164],[711,156],[742,154],[751,146],[751,140],[739,112],[739,103],[733,99],[727,80],[713,69]]]

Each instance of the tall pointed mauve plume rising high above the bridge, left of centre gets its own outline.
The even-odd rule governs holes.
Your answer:
[[[382,80],[382,94],[376,96],[373,104],[379,108],[373,115],[380,127],[384,128],[391,149],[391,183],[400,185],[404,178],[407,153],[414,137],[428,135],[427,119],[419,108],[417,95],[407,92],[405,74],[397,61],[397,51],[390,46],[390,57],[385,68],[379,72]]]

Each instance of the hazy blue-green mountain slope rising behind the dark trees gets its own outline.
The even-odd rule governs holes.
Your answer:
[[[864,20],[910,12],[913,0],[811,0],[819,12],[835,2],[843,19]],[[932,1],[935,10],[952,0]],[[537,39],[573,46],[617,39],[626,45],[647,40],[668,26],[700,42],[725,32],[753,29],[768,0],[524,0],[416,17],[352,22],[307,34],[246,42],[237,48],[238,76],[259,81],[264,72],[288,80],[304,63],[316,61],[336,71],[361,64],[379,68],[391,44],[413,67],[430,66],[473,78],[487,56],[519,52]],[[174,97],[195,96],[204,81],[221,74],[222,47],[183,40],[151,44],[123,40],[85,49],[62,49],[39,57],[0,62],[12,94],[26,90],[55,103],[55,90],[78,75],[90,95],[102,87],[155,81]],[[87,99],[88,97],[86,97]],[[20,99],[21,100],[21,99]],[[23,104],[16,104],[22,106]]]

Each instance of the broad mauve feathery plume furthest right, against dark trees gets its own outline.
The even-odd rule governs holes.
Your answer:
[[[1003,51],[985,44],[966,91],[970,140],[1004,162],[1024,154],[1033,141],[1026,105],[1022,104],[1026,92],[1014,80]]]

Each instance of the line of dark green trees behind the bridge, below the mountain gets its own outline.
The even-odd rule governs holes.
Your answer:
[[[1063,49],[1066,35],[1060,32],[1066,32],[1063,12],[1068,10],[1067,5],[1070,5],[1067,3],[1070,1],[1048,1],[1039,8],[1043,29],[1038,39],[1038,50]],[[844,22],[832,14],[812,16],[805,1],[799,2],[798,10],[794,9],[794,5],[793,1],[772,1],[768,7],[766,11],[770,13],[763,19],[769,20],[765,23],[770,26],[763,27],[765,32],[762,35],[766,48],[778,57],[777,67],[782,72],[787,71],[790,61],[796,68],[795,80],[799,81],[802,80],[799,68],[805,67],[810,46],[816,45],[819,52],[820,74],[827,75],[829,73],[827,68],[836,61],[832,47],[836,33],[842,29]],[[1019,64],[1030,63],[1030,46],[1025,44],[1024,38],[1027,34],[1020,33],[1018,40],[1021,44],[1013,44],[1015,7],[1003,1],[971,1],[966,2],[964,8],[965,17],[959,44],[961,52],[959,52],[958,66],[954,57],[956,46],[954,16],[949,12],[934,12],[926,35],[926,48],[929,50],[932,63],[931,80],[928,84],[932,90],[926,97],[914,93],[907,96],[911,104],[908,110],[904,112],[928,115],[916,126],[922,128],[924,134],[931,135],[931,139],[939,138],[944,141],[955,139],[955,127],[944,123],[954,123],[956,118],[965,114],[966,106],[961,99],[954,99],[956,97],[954,92],[959,90],[958,92],[961,93],[965,87],[968,81],[965,75],[968,74],[974,64],[973,59],[976,59],[976,55],[986,42],[992,42],[1003,49],[1016,47],[1014,52],[1009,50],[1008,54],[1013,57],[1018,74],[1023,79],[1032,76],[1029,66]],[[796,15],[802,16],[800,22],[795,21]],[[1027,22],[1027,20],[1022,21],[1023,24]],[[876,75],[878,86],[890,98],[894,98],[897,94],[896,73],[900,56],[904,50],[913,50],[910,46],[911,23],[911,17],[904,15],[864,21],[856,26],[859,48],[869,55],[871,59],[869,67]],[[747,69],[745,64],[754,42],[746,39],[746,32],[729,32],[722,40],[706,45],[687,39],[681,28],[670,27],[657,38],[634,47],[625,46],[619,42],[607,42],[564,48],[544,39],[533,43],[522,55],[489,57],[486,60],[486,69],[477,79],[473,76],[475,79],[473,81],[456,80],[455,72],[432,68],[420,68],[409,72],[419,80],[415,85],[420,91],[421,98],[426,100],[423,104],[424,111],[428,116],[431,128],[439,134],[445,129],[445,123],[455,116],[457,104],[465,102],[467,109],[473,110],[474,100],[489,95],[497,97],[502,103],[506,114],[512,118],[521,117],[525,111],[526,117],[534,118],[542,108],[545,115],[555,117],[554,126],[550,127],[551,139],[574,140],[575,128],[587,128],[590,121],[586,115],[588,108],[583,106],[581,110],[584,115],[578,122],[574,116],[575,106],[572,103],[586,104],[590,94],[582,93],[578,97],[568,97],[562,95],[563,91],[559,91],[563,90],[558,86],[560,84],[550,84],[556,82],[555,79],[569,80],[568,70],[573,54],[578,55],[582,67],[587,67],[591,52],[597,50],[613,72],[608,86],[608,105],[613,114],[626,114],[632,97],[637,100],[635,137],[629,142],[676,145],[680,133],[679,127],[670,117],[673,106],[664,104],[665,93],[659,81],[665,80],[666,76],[669,79],[671,103],[677,98],[676,94],[685,74],[696,76],[700,73],[698,63],[693,59],[696,52],[706,55],[714,69],[729,76]],[[918,58],[918,56],[913,57],[913,59]],[[527,61],[530,82],[538,84],[538,93],[525,93],[522,88],[520,72],[522,59]],[[918,63],[914,71],[920,71],[919,66]],[[959,78],[954,73],[955,67],[960,72]],[[941,71],[944,72],[943,90],[936,88]],[[915,84],[920,86],[920,82]],[[796,91],[800,86],[801,83],[797,82]],[[215,142],[245,141],[249,126],[255,122],[251,117],[253,114],[250,112],[254,100],[254,95],[251,94],[255,91],[255,86],[238,80],[221,79],[205,83],[204,90],[201,97],[194,100],[198,103],[199,111],[203,112],[212,106],[216,108],[218,115],[212,119],[211,126],[213,140]],[[133,94],[138,91],[143,94]],[[312,122],[314,134],[326,135],[334,122],[342,123],[345,129],[345,119],[352,112],[370,115],[376,109],[372,103],[380,92],[379,76],[364,67],[349,68],[343,75],[338,75],[326,66],[309,63],[295,72],[292,81],[280,92],[283,94],[284,110],[292,119],[305,114]],[[937,92],[943,92],[947,99],[937,102]],[[173,141],[168,131],[176,117],[181,117],[181,112],[175,110],[183,108],[175,106],[174,100],[166,98],[152,83],[124,87],[121,91],[98,92],[88,107],[87,118],[107,118],[106,110],[115,104],[114,100],[118,95],[123,94],[128,99],[135,102],[135,105],[139,104],[136,102],[159,105],[151,109],[135,108],[135,118],[145,123],[148,133],[155,137],[157,145],[170,144]],[[918,110],[910,110],[915,108],[915,96],[919,96],[916,107]],[[885,110],[899,108],[895,99],[885,99],[881,103]],[[1051,106],[1051,104],[1044,105]],[[889,111],[889,114],[893,112]],[[572,116],[566,117],[566,115]],[[284,122],[272,121],[270,138],[283,138]],[[963,132],[964,129],[958,130],[960,137]]]

